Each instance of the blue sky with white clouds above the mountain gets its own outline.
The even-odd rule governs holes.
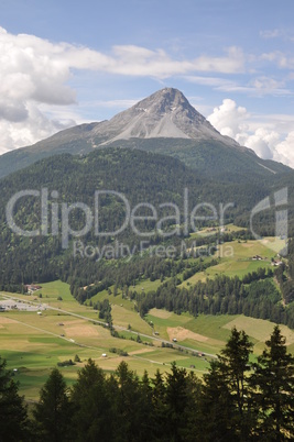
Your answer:
[[[165,87],[294,167],[292,0],[2,0],[0,153]]]

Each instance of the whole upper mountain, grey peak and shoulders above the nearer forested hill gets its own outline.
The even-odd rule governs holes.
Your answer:
[[[272,178],[291,169],[259,158],[253,151],[222,136],[173,88],[162,89],[109,121],[62,131],[33,146],[1,156],[0,178],[55,154],[86,154],[119,146],[174,156],[202,174],[240,181]]]

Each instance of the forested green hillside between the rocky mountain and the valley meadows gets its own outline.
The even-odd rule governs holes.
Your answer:
[[[285,185],[285,181],[282,183]],[[13,208],[9,209],[13,224],[7,218],[8,201],[25,190],[29,194],[33,190],[34,194],[19,194]],[[106,147],[85,156],[64,154],[40,161],[1,181],[1,288],[22,291],[22,284],[61,278],[70,284],[72,294],[83,303],[110,287],[113,290],[118,287],[129,290],[144,275],[146,283],[150,283],[145,289],[157,290],[156,296],[162,299],[162,307],[171,306],[172,310],[182,312],[186,311],[187,303],[182,303],[181,299],[187,295],[179,285],[184,280],[189,283],[188,278],[193,275],[200,276],[207,270],[207,275],[216,274],[217,284],[221,287],[228,286],[220,295],[225,303],[215,299],[217,286],[199,287],[198,279],[194,295],[190,290],[188,295],[194,297],[195,302],[199,302],[196,303],[196,310],[195,306],[190,307],[188,303],[192,314],[197,311],[214,314],[249,312],[257,318],[276,318],[276,321],[292,324],[292,313],[287,314],[290,310],[282,311],[283,307],[282,310],[277,307],[281,295],[272,283],[261,280],[261,285],[253,287],[251,291],[242,278],[255,280],[255,276],[247,275],[252,266],[242,267],[244,272],[238,274],[239,288],[236,291],[233,275],[237,274],[226,275],[232,280],[221,279],[219,275],[227,268],[226,259],[224,267],[215,255],[224,241],[239,243],[252,239],[250,231],[246,229],[232,229],[231,232],[225,230],[224,233],[218,231],[217,226],[221,221],[220,205],[229,203],[225,211],[226,224],[239,220],[241,225],[247,226],[252,208],[275,190],[273,184],[269,187],[264,183],[236,185],[209,180],[175,158],[139,150]],[[97,191],[101,192],[99,205],[97,202],[98,211],[95,199]],[[290,195],[293,198],[293,194]],[[45,198],[45,203],[42,203],[42,198]],[[291,217],[293,200],[290,202]],[[132,212],[130,218],[126,218],[127,205],[129,214]],[[254,229],[263,235],[274,233],[274,211],[262,211],[254,222]],[[18,234],[15,225],[29,234]],[[34,231],[37,232],[30,234]],[[282,243],[285,244],[285,240]],[[188,251],[195,246],[202,251],[189,257]],[[248,246],[249,243],[246,244],[247,248]],[[255,252],[249,252],[247,258],[253,254],[265,255],[260,247],[259,245],[259,248],[254,248]],[[271,266],[269,258],[274,258],[279,251],[276,248],[273,254],[266,252],[268,266]],[[231,268],[231,264],[228,265]],[[240,263],[237,265],[240,269]],[[292,274],[293,264],[291,265],[292,269],[288,272]],[[210,272],[214,266],[216,272]],[[254,267],[254,274],[258,268]],[[279,275],[285,302],[292,302],[291,279],[283,272]],[[264,274],[261,272],[257,279],[263,278]],[[162,286],[164,281],[170,284],[167,288]],[[265,287],[264,284],[270,285]],[[196,301],[203,296],[203,289],[209,290],[210,307],[200,301],[200,298]],[[166,290],[171,298],[166,298]],[[268,305],[266,312],[261,306],[264,302],[264,290],[272,292],[272,305]],[[260,294],[258,298],[257,292]],[[176,302],[174,295],[178,295]],[[137,302],[142,316],[157,306],[154,295],[150,296],[151,298],[145,299],[138,295]],[[244,297],[248,298],[246,302]],[[258,310],[253,311],[257,303]]]

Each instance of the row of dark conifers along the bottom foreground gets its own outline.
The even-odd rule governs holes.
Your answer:
[[[122,361],[107,375],[89,360],[68,388],[54,368],[30,417],[0,360],[0,441],[292,441],[294,358],[277,325],[257,362],[252,346],[233,328],[203,379],[175,363],[139,378]]]

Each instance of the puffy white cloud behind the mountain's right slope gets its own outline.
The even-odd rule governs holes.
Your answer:
[[[282,137],[281,133],[271,128],[273,122],[263,124],[262,121],[253,121],[247,109],[238,107],[231,99],[225,99],[222,104],[215,108],[208,121],[222,135],[231,136],[239,144],[252,148],[261,158],[274,159],[294,168],[293,121],[293,130]]]

